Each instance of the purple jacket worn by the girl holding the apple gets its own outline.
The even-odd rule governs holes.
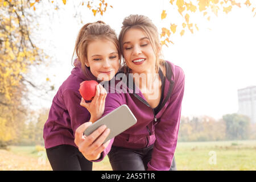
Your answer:
[[[63,82],[52,100],[47,122],[44,124],[44,146],[51,148],[60,144],[76,146],[74,142],[75,131],[82,123],[89,121],[90,113],[80,106],[80,83],[84,80],[97,80],[89,71],[85,77],[81,64],[72,69],[71,75]]]

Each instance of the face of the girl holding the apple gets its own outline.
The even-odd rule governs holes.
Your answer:
[[[114,43],[106,39],[90,42],[85,65],[99,80],[111,80],[119,69],[118,50]]]

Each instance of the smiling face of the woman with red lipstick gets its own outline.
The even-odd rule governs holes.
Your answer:
[[[123,57],[133,73],[155,71],[156,56],[150,39],[139,28],[131,28],[123,36]]]

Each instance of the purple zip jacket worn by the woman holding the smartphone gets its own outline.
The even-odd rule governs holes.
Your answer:
[[[144,148],[154,144],[152,159],[147,164],[148,170],[170,169],[179,131],[185,76],[180,67],[169,61],[166,61],[165,67],[164,98],[156,115],[142,93],[134,92],[134,86],[130,86],[133,84],[126,85],[125,89],[130,93],[108,93],[104,115],[126,104],[137,118],[137,123],[112,139],[97,161],[108,154],[112,144],[126,148]]]

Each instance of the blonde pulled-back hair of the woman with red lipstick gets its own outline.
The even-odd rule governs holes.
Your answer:
[[[160,59],[160,39],[158,34],[158,28],[156,28],[155,24],[152,23],[151,19],[149,19],[147,16],[144,15],[129,15],[125,19],[123,19],[123,26],[121,28],[121,32],[119,34],[119,44],[121,47],[121,52],[123,53],[123,36],[130,28],[139,28],[142,31],[146,33],[148,36],[148,39],[150,40],[151,46],[154,50],[155,56],[156,56],[156,65],[155,69],[156,72],[158,72],[160,64],[164,65],[164,60]],[[123,69],[124,72],[127,73],[127,70],[129,69],[123,61]]]

